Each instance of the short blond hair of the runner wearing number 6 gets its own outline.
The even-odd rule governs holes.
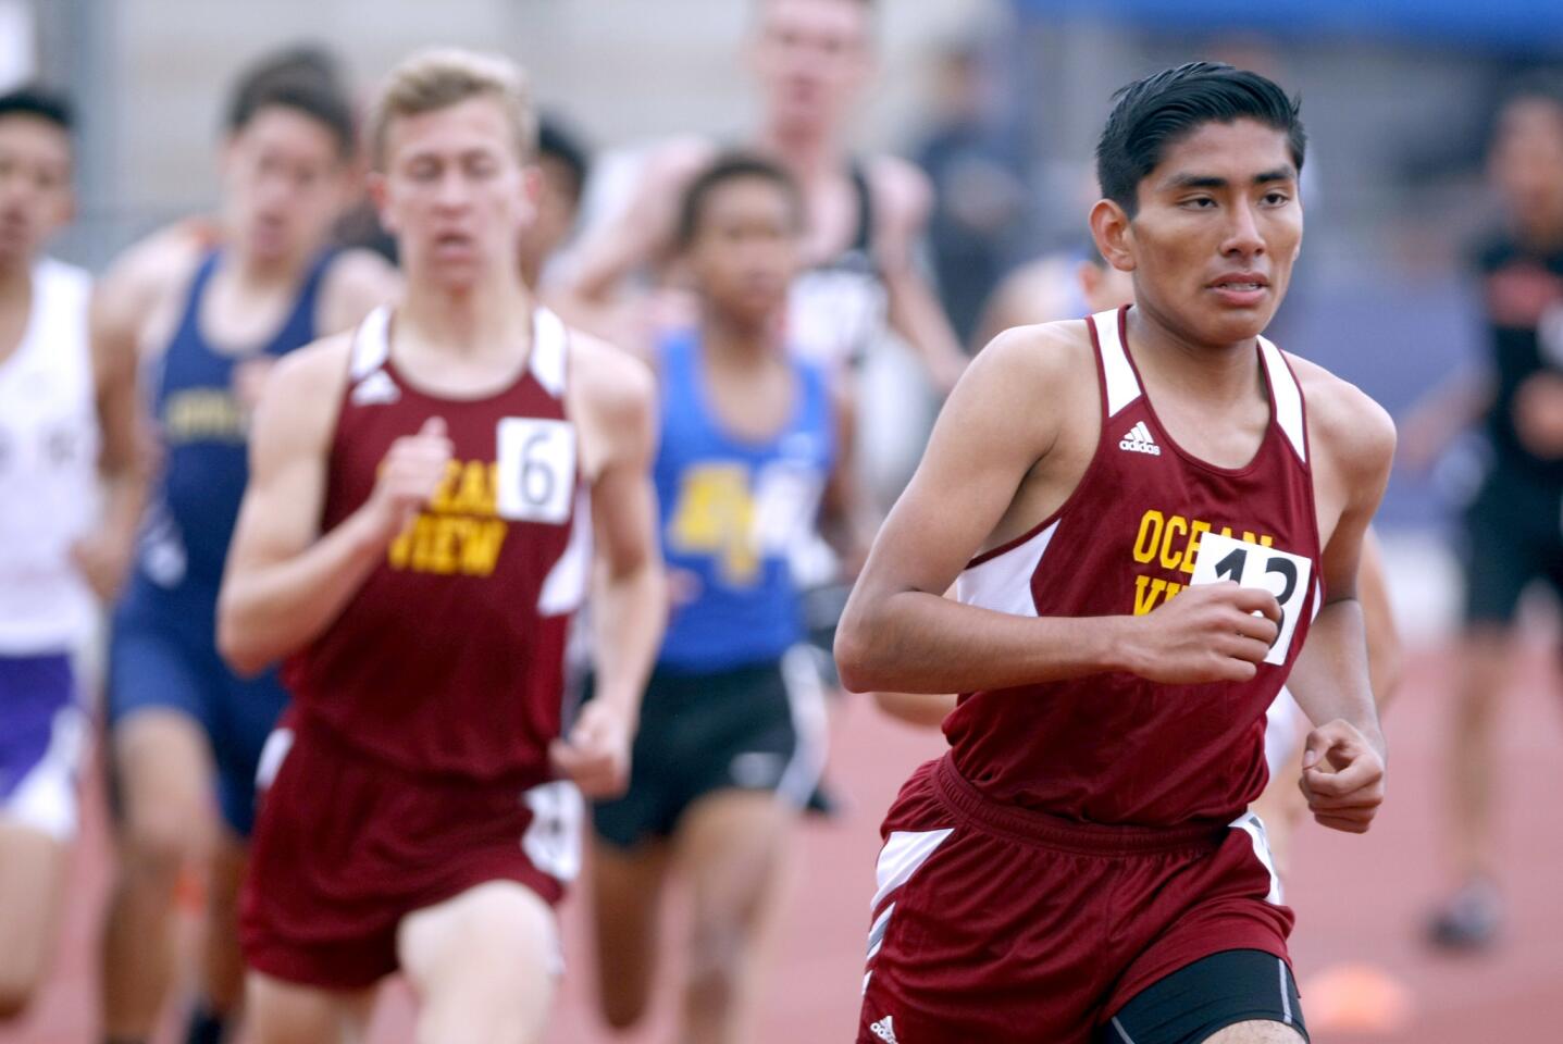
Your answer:
[[[517,155],[530,161],[538,148],[538,114],[531,108],[527,73],[502,55],[460,47],[416,52],[391,70],[369,116],[370,161],[384,169],[386,138],[394,120],[480,97],[500,103],[516,133]]]

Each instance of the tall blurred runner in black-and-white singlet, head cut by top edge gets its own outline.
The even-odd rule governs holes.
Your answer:
[[[964,356],[913,248],[932,191],[896,156],[857,159],[844,141],[852,103],[872,72],[872,0],[755,0],[749,66],[763,111],[752,147],[792,175],[803,192],[805,270],[792,288],[788,342],[827,367],[861,361],[891,328],[947,391]],[[574,291],[606,303],[635,269],[672,253],[678,203],[719,147],[680,139],[646,159],[635,197],[583,245]]]

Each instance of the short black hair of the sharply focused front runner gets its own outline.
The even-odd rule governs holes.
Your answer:
[[[1205,123],[1239,119],[1285,131],[1293,166],[1300,173],[1308,133],[1299,106],[1300,98],[1288,98],[1257,72],[1210,61],[1193,61],[1136,80],[1113,95],[1113,111],[1096,145],[1102,195],[1133,217],[1139,181],[1157,169],[1172,145]]]

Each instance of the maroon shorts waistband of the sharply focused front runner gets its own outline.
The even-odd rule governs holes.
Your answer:
[[[1216,849],[1230,830],[1225,825],[1118,827],[1082,824],[1033,808],[1002,805],[972,786],[946,755],[933,770],[933,786],[950,811],[974,825],[1022,844],[1061,849],[1080,855],[1144,855],[1188,849]]]

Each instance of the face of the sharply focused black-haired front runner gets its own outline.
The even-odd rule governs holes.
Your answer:
[[[1196,344],[1260,334],[1302,247],[1285,131],[1247,119],[1205,123],[1168,148],[1138,197],[1125,245],[1139,306]]]

